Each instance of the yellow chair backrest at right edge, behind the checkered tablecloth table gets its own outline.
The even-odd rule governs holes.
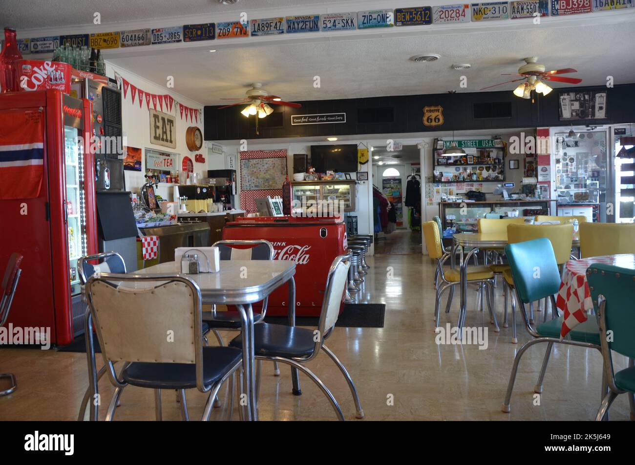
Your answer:
[[[635,253],[635,224],[580,224],[580,254],[583,259],[617,253]]]

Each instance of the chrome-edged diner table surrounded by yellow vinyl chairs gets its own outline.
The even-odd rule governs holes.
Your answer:
[[[540,225],[535,225],[540,227]],[[479,250],[501,249],[507,245],[507,231],[500,233],[459,233],[452,236],[452,250],[450,253],[450,266],[457,266],[456,255],[459,252],[458,267],[460,273],[460,309],[458,312],[459,334],[465,325],[465,311],[467,306],[467,262],[474,253]],[[580,235],[573,233],[572,247],[580,247]],[[465,255],[465,249],[471,249]]]

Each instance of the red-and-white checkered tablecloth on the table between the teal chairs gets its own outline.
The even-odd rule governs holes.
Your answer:
[[[566,264],[565,273],[556,306],[565,313],[560,338],[580,323],[587,321],[587,314],[593,309],[591,290],[587,282],[587,268],[594,263],[605,263],[620,267],[635,267],[635,255],[624,253],[621,255],[602,255],[601,257],[589,257],[581,260],[570,260]]]

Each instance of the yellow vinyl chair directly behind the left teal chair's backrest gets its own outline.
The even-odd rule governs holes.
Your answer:
[[[565,266],[571,255],[571,245],[573,242],[573,224],[510,224],[509,226],[507,226],[507,242],[510,244],[531,241],[538,238],[549,239],[554,250],[554,255],[556,255],[556,264],[558,264],[559,267]],[[536,270],[536,273],[540,273],[540,270]],[[514,300],[514,278],[512,278],[511,269],[508,268],[507,270],[503,271],[503,278],[505,282],[505,321],[507,321],[507,296],[511,294],[512,343],[517,344],[518,338],[516,337],[516,302]],[[531,305],[533,305],[533,303]],[[546,301],[544,307],[545,313],[543,316],[543,321],[547,321]],[[554,308],[553,306],[551,308],[551,316],[552,318],[558,317],[558,309]],[[530,321],[530,323],[533,324],[533,321]]]

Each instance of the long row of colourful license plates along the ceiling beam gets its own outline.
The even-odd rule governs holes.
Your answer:
[[[269,36],[298,32],[330,32],[374,27],[479,22],[563,16],[592,11],[631,8],[635,0],[519,0],[444,6],[418,6],[395,10],[357,11],[326,15],[287,16],[186,24],[158,29],[122,30],[97,34],[32,37],[18,39],[22,53],[51,53],[60,45],[88,46],[97,49],[135,47],[175,42],[196,42],[232,37]]]

